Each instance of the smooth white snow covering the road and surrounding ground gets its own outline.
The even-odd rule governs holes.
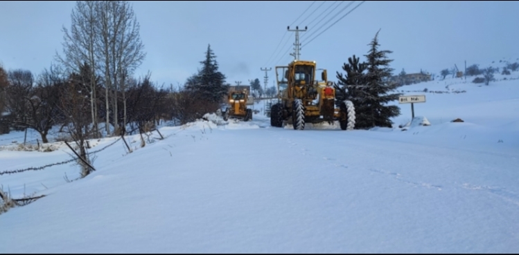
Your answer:
[[[0,253],[518,253],[519,72],[495,77],[399,88],[426,95],[414,111],[431,124],[405,131],[410,104],[393,129],[294,131],[259,113],[163,126],[143,148],[127,136],[132,153],[93,141],[112,145],[86,178],[73,162],[0,175],[13,198],[47,195],[0,215]],[[0,135],[0,172],[71,160],[13,140]]]

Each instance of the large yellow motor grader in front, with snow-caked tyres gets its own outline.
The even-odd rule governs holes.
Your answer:
[[[355,126],[355,108],[349,100],[337,102],[335,88],[328,82],[326,70],[319,81],[315,78],[315,61],[294,60],[288,66],[276,66],[278,103],[270,110],[270,125],[292,124],[303,130],[305,123],[338,121],[342,130]],[[281,76],[280,76],[281,75]]]

